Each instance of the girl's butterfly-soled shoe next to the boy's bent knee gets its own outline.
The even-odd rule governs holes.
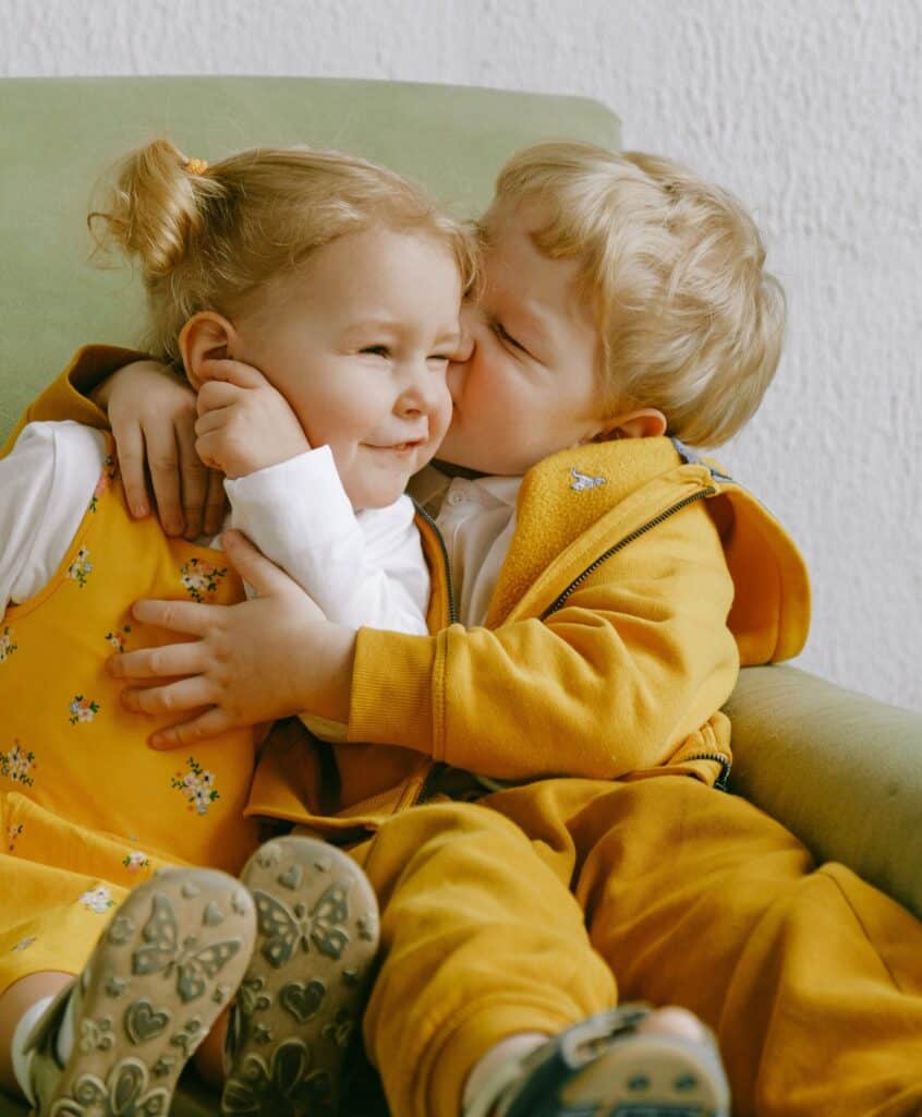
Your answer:
[[[377,952],[372,886],[336,847],[294,834],[260,847],[240,879],[258,929],[231,1014],[221,1111],[335,1114]]]

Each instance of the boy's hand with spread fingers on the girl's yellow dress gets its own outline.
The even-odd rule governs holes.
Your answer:
[[[172,680],[129,686],[122,696],[128,709],[193,712],[191,718],[154,733],[150,744],[177,748],[302,710],[347,722],[355,632],[328,621],[246,536],[227,532],[222,542],[229,562],[259,595],[236,605],[138,601],[136,620],[199,639],[108,660],[109,671],[129,682]]]

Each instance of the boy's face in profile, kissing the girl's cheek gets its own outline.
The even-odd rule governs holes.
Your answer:
[[[449,369],[443,461],[517,476],[603,426],[595,323],[576,261],[550,259],[531,240],[542,217],[536,203],[494,213],[483,295],[462,312],[473,350]]]

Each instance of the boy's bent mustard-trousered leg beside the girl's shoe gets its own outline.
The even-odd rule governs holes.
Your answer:
[[[497,1081],[508,1081],[507,1100],[519,1092],[519,1054],[579,1021],[595,1029],[588,1048],[614,1046],[617,1023],[585,1021],[614,1004],[615,984],[567,889],[572,850],[538,848],[496,812],[450,803],[388,820],[355,853],[382,904],[365,1039],[392,1113],[458,1117],[471,1071],[465,1100],[487,1113]],[[665,1047],[672,1058],[676,1044]],[[532,1066],[557,1075],[541,1052]],[[607,1085],[602,1099],[604,1111],[618,1100]]]

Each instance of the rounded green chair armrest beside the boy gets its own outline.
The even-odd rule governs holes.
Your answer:
[[[794,667],[748,667],[730,791],[922,916],[922,715]]]

